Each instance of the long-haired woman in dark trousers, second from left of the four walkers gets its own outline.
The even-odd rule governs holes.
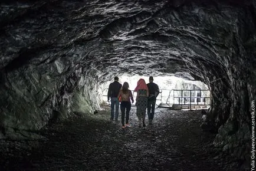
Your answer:
[[[134,102],[132,91],[130,91],[128,88],[129,88],[129,84],[127,82],[124,82],[117,96],[121,101],[120,108],[122,113],[122,128],[124,128],[125,109],[126,109],[126,126],[129,126],[129,113],[132,107],[130,100],[132,100],[132,103]]]

